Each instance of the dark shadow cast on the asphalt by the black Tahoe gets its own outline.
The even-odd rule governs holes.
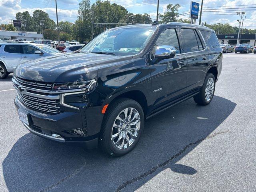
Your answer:
[[[125,190],[137,180],[144,184],[161,168],[195,174],[194,168],[176,162],[211,135],[235,107],[234,102],[219,96],[208,106],[187,100],[146,121],[136,148],[118,158],[99,149],[88,152],[28,133],[4,159],[4,180],[10,192],[106,192]]]

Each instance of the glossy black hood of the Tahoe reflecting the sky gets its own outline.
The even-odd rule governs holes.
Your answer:
[[[20,64],[14,70],[14,75],[42,82],[83,81],[97,78],[98,68],[124,60],[132,60],[132,56],[68,53]]]

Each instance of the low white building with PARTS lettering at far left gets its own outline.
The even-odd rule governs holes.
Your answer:
[[[42,39],[42,34],[37,34],[37,32],[18,32],[18,31],[1,31],[0,39],[2,40],[13,40],[20,39],[22,41],[32,41],[37,39]]]

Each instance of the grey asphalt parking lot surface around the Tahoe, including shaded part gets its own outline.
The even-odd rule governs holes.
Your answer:
[[[0,80],[0,191],[256,191],[256,54],[224,54],[208,106],[187,100],[146,121],[120,158],[28,132]]]

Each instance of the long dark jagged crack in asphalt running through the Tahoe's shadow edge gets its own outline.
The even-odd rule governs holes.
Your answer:
[[[182,150],[180,150],[180,151],[179,151],[177,154],[175,154],[174,156],[170,157],[168,160],[166,160],[166,161],[164,161],[164,162],[162,162],[162,163],[160,163],[160,164],[158,164],[158,165],[152,167],[152,168],[151,168],[150,170],[148,170],[147,172],[144,172],[143,174],[141,174],[141,175],[139,175],[139,176],[136,176],[136,177],[134,177],[134,178],[132,178],[132,179],[130,179],[130,180],[124,182],[123,184],[119,185],[119,186],[116,188],[115,192],[120,192],[123,188],[127,187],[128,185],[130,185],[130,184],[132,184],[132,183],[134,183],[134,182],[137,182],[138,180],[140,180],[140,179],[142,179],[142,178],[144,178],[144,177],[146,177],[146,176],[148,176],[148,175],[154,173],[158,168],[161,168],[161,167],[163,167],[163,166],[166,166],[167,164],[169,164],[170,162],[172,162],[173,159],[175,159],[175,158],[177,158],[178,156],[182,155],[182,153],[184,153],[190,146],[199,144],[199,143],[202,142],[203,140],[206,140],[206,139],[208,139],[208,138],[213,138],[213,137],[215,137],[215,136],[217,136],[217,135],[219,135],[219,134],[224,134],[224,133],[226,133],[226,132],[229,132],[229,130],[227,130],[227,131],[222,131],[222,132],[216,132],[216,133],[214,133],[214,134],[212,134],[212,135],[209,135],[209,136],[207,136],[207,137],[205,137],[205,138],[198,139],[196,142],[187,144]]]

